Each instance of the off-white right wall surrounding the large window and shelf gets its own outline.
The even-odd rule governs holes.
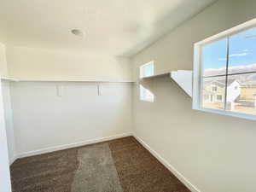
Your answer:
[[[194,43],[256,17],[256,1],[219,0],[132,59],[154,60],[156,73],[193,68]],[[256,191],[256,122],[192,110],[192,100],[169,78],[154,79],[155,102],[134,91],[135,132],[203,192]]]

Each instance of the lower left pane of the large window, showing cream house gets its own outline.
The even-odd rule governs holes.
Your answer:
[[[202,108],[224,109],[225,76],[202,79]]]

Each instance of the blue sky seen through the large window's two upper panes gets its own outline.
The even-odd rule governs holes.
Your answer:
[[[204,69],[225,67],[226,55],[227,39],[207,45],[203,49]],[[256,64],[256,28],[230,37],[229,63],[230,67]]]

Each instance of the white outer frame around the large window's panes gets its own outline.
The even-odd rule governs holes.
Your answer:
[[[235,26],[227,31],[221,32],[218,35],[214,35],[210,38],[206,38],[201,42],[194,45],[194,74],[193,74],[193,106],[195,110],[200,110],[207,113],[218,113],[228,116],[233,116],[242,119],[252,119],[256,120],[256,115],[246,114],[246,113],[235,113],[230,111],[218,110],[218,109],[208,109],[201,107],[201,50],[203,46],[207,44],[212,44],[221,40],[223,38],[228,38],[230,36],[237,35],[241,32],[246,32],[247,30],[256,27],[256,19],[249,20],[239,26]]]

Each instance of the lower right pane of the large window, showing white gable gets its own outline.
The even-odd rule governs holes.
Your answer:
[[[256,114],[256,73],[229,75],[227,110]]]

